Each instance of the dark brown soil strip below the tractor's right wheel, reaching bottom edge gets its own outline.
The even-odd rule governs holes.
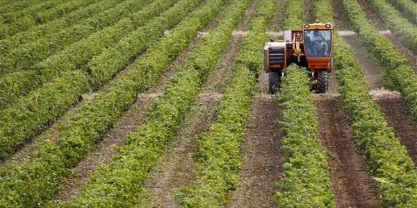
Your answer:
[[[377,184],[359,155],[340,98],[315,96],[322,144],[329,152],[336,207],[379,207]]]

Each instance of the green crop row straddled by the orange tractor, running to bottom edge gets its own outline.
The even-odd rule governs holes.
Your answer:
[[[287,68],[281,89],[284,174],[275,199],[279,207],[334,207],[327,153],[318,133],[318,119],[309,77],[303,68]]]

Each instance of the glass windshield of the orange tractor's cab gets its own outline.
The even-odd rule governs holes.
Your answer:
[[[332,34],[330,33],[330,30],[305,31],[304,40],[307,57],[329,57],[332,47]]]

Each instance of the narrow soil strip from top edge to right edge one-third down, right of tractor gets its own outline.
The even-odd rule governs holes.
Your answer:
[[[376,12],[373,11],[372,6],[370,6],[366,0],[358,0],[358,2],[361,4],[363,10],[366,11],[366,15],[370,21],[373,22],[373,24],[379,29],[379,31],[386,31],[388,28],[384,24],[384,21],[380,19]],[[409,64],[411,64],[412,67],[417,71],[417,54],[414,54],[413,51],[410,49],[407,49],[406,46],[404,46],[400,40],[398,40],[397,37],[395,37],[393,34],[385,34],[386,37],[391,40],[395,46],[397,46],[397,49],[402,52],[402,54],[409,60]]]

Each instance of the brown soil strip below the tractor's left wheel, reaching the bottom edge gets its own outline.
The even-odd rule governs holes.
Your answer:
[[[281,108],[272,98],[258,96],[243,144],[245,160],[240,187],[231,193],[231,207],[275,207],[275,183],[281,178]]]

